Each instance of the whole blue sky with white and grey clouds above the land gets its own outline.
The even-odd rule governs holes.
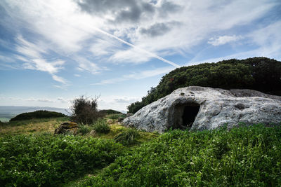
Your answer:
[[[178,67],[281,60],[281,1],[1,0],[0,106],[126,111]]]

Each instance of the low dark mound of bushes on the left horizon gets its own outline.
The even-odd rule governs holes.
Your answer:
[[[60,117],[65,117],[65,114],[55,111],[33,111],[27,113],[20,113],[18,116],[11,118],[10,121],[31,120],[36,118],[60,118]]]

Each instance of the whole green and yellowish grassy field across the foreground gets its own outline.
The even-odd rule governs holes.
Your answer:
[[[158,134],[117,119],[76,136],[53,135],[69,118],[1,124],[0,186],[281,186],[281,127]]]

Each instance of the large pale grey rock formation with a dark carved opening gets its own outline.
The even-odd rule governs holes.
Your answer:
[[[170,127],[211,130],[239,123],[281,124],[281,97],[255,90],[190,86],[149,104],[125,118],[123,125],[148,132]]]

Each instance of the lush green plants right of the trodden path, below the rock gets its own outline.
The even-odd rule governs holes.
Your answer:
[[[281,186],[281,128],[174,130],[120,156],[84,186]]]

